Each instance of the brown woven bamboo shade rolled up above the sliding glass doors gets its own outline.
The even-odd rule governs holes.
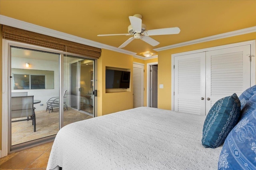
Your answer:
[[[24,29],[2,25],[2,32],[3,39],[10,39],[12,41],[83,55],[85,56],[84,58],[90,57],[93,59],[99,59],[101,55],[101,49],[99,48],[26,31]]]

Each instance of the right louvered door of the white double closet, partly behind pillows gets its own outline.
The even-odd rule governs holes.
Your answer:
[[[220,98],[250,87],[250,45],[206,52],[206,114]]]

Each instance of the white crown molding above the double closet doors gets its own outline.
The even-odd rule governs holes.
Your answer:
[[[210,36],[210,37],[195,39],[195,40],[192,40],[192,41],[186,41],[186,42],[178,43],[178,44],[174,44],[174,45],[168,45],[168,46],[165,46],[165,47],[156,48],[154,50],[155,51],[163,51],[163,50],[168,50],[168,49],[174,49],[174,48],[177,48],[177,47],[183,47],[183,46],[187,46],[187,45],[203,43],[203,42],[206,42],[206,41],[213,41],[213,40],[216,40],[216,39],[233,37],[233,36],[236,36],[236,35],[242,35],[242,34],[253,33],[253,32],[256,32],[256,26],[245,28],[245,29],[239,29],[239,30],[231,31],[231,32],[227,32],[227,33],[222,33],[222,34],[218,34],[218,35],[213,35],[213,36]]]

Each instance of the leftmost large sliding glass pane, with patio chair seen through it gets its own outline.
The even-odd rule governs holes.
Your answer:
[[[59,130],[59,109],[48,100],[59,98],[60,54],[10,47],[10,56],[9,140],[15,150]]]

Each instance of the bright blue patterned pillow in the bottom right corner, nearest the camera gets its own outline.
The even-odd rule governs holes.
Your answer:
[[[229,133],[220,152],[218,169],[256,169],[256,110]]]

